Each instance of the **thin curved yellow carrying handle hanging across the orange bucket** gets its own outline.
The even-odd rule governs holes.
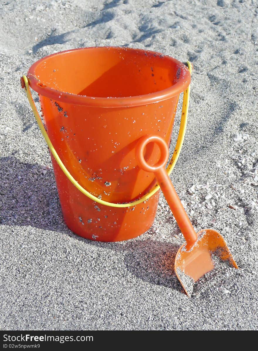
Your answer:
[[[189,61],[187,61],[186,63],[188,65],[190,74],[192,74],[192,65],[191,65],[191,63]],[[49,150],[51,151],[52,155],[56,159],[57,164],[59,165],[61,170],[64,172],[66,177],[73,183],[73,185],[78,190],[80,190],[80,192],[82,192],[84,195],[88,196],[88,198],[90,198],[91,200],[96,201],[97,203],[102,204],[102,205],[106,205],[106,206],[110,206],[110,207],[131,207],[131,206],[136,206],[136,205],[142,203],[143,201],[148,200],[152,195],[154,195],[159,190],[159,185],[156,184],[155,187],[150,192],[145,194],[142,198],[140,198],[137,201],[133,201],[133,202],[130,202],[130,203],[127,203],[127,204],[114,204],[114,203],[111,203],[111,202],[108,202],[108,201],[101,200],[101,199],[97,198],[96,196],[92,195],[91,193],[89,193],[86,189],[84,189],[73,178],[73,176],[69,173],[67,168],[62,163],[59,155],[55,151],[55,148],[54,148],[53,144],[51,143],[51,140],[49,139],[49,137],[47,135],[45,127],[44,127],[44,125],[43,125],[43,123],[41,121],[40,115],[39,115],[38,110],[36,108],[36,105],[35,105],[35,102],[33,100],[32,94],[30,92],[29,82],[28,82],[28,79],[27,79],[26,75],[23,75],[22,79],[24,81],[24,87],[25,87],[25,91],[26,91],[26,94],[27,94],[27,98],[29,100],[29,104],[30,104],[30,106],[32,108],[32,111],[33,111],[33,114],[34,114],[34,116],[36,118],[36,121],[37,121],[37,123],[39,125],[40,131],[41,131],[41,133],[43,134],[43,137],[46,140],[46,143],[47,143],[47,145],[49,147]],[[177,142],[176,142],[176,147],[175,147],[174,153],[172,155],[172,158],[171,158],[170,163],[169,163],[168,168],[167,168],[168,174],[170,174],[172,172],[173,168],[175,167],[177,159],[179,157],[179,153],[180,153],[180,151],[182,149],[182,145],[183,145],[183,141],[184,141],[184,135],[185,135],[185,130],[186,130],[186,124],[187,124],[187,117],[188,117],[189,97],[190,97],[190,85],[184,91],[181,123],[180,123],[178,138],[177,138]]]

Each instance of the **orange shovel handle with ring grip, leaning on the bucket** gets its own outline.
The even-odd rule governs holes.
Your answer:
[[[149,143],[157,144],[161,153],[160,159],[154,166],[149,165],[144,159],[144,149]],[[167,164],[169,156],[168,145],[158,135],[145,135],[138,141],[135,151],[138,165],[144,171],[155,174],[157,182],[186,240],[186,249],[189,250],[196,242],[197,234],[177,195],[174,185],[165,170],[165,165]]]

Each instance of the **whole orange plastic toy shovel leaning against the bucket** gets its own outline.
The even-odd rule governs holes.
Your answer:
[[[151,166],[144,158],[147,144],[158,145],[161,157],[156,165]],[[136,146],[136,159],[138,165],[146,172],[153,172],[158,184],[169,204],[169,207],[182,231],[186,243],[177,251],[175,258],[175,272],[186,294],[191,296],[191,282],[196,282],[203,274],[215,268],[212,256],[217,256],[223,261],[238,268],[223,237],[213,229],[203,229],[196,233],[176,190],[166,172],[169,150],[166,142],[157,135],[142,137]]]

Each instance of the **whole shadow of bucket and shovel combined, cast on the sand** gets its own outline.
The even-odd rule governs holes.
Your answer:
[[[174,272],[179,246],[153,239],[101,243],[77,236],[63,221],[53,170],[45,175],[42,170],[45,167],[22,163],[15,157],[0,158],[0,224],[62,232],[86,245],[124,252],[124,266],[135,277],[181,291]]]

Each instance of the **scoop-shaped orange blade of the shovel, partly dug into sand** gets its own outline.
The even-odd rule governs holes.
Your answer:
[[[238,268],[223,237],[215,230],[203,229],[197,233],[198,239],[190,250],[186,243],[177,251],[175,272],[184,291],[190,297],[194,282],[215,268],[212,256],[228,261]],[[191,284],[192,282],[192,284]]]

